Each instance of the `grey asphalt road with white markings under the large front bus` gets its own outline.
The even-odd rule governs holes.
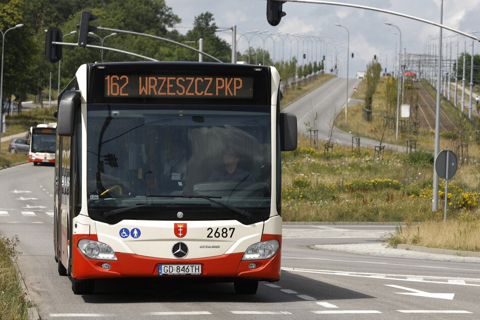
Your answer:
[[[54,260],[53,174],[30,163],[0,170],[0,234],[20,238],[20,271],[42,319],[480,318],[480,258],[383,248],[389,225],[284,225],[281,280],[255,296],[152,279],[102,281],[76,296]]]

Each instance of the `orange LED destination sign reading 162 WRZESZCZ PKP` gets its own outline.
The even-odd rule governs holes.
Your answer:
[[[106,74],[105,97],[252,98],[253,77]]]

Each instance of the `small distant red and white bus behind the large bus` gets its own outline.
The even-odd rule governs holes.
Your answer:
[[[27,140],[30,141],[28,161],[33,165],[55,163],[57,123],[40,123],[30,127]]]

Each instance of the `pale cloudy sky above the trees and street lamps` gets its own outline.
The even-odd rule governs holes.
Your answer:
[[[399,12],[440,23],[441,0],[339,0],[337,2]],[[270,57],[274,56],[275,60],[281,60],[281,58],[290,60],[291,55],[297,56],[298,53],[300,61],[303,62],[302,52],[307,55],[306,62],[317,57],[321,60],[320,57],[325,55],[326,68],[329,69],[335,60],[334,46],[339,52],[337,61],[340,76],[343,77],[347,70],[347,51],[350,53],[348,62],[350,77],[355,76],[357,71],[366,70],[367,64],[374,56],[377,57],[382,69],[387,68],[387,72],[393,72],[394,65],[398,66],[398,60],[396,61],[400,40],[398,29],[402,33],[403,47],[407,53],[425,54],[426,50],[433,52],[434,45],[435,47],[438,45],[439,27],[437,26],[363,9],[286,2],[282,9],[286,16],[273,27],[266,19],[265,0],[165,0],[165,3],[182,20],[177,25],[181,33],[185,33],[192,26],[196,16],[207,11],[213,14],[218,27],[229,28],[235,24],[237,51],[241,53],[246,52],[249,45],[247,39],[250,39],[251,47],[265,46],[265,50],[268,50]],[[386,25],[385,22],[396,25],[398,29]],[[341,24],[348,29],[350,40],[348,40],[347,30],[335,24]],[[480,0],[444,0],[443,24],[466,33],[480,31]],[[256,30],[258,32],[268,30],[268,33],[254,36],[251,32]],[[278,32],[290,33],[290,36],[278,36]],[[274,35],[268,36],[268,34]],[[331,44],[325,45],[320,40],[293,36],[293,34],[324,37],[322,39]],[[464,50],[465,40],[466,50],[471,53],[472,40],[462,35],[450,36],[453,34],[448,30],[443,31],[444,55],[446,52],[449,58],[451,47],[452,59],[455,59],[457,48],[460,53]],[[218,35],[231,43],[231,34],[218,32]],[[475,35],[480,37],[480,33]],[[434,40],[434,38],[437,39]],[[275,52],[273,52],[273,39],[275,39]],[[480,52],[480,43],[476,42],[474,49],[475,54]],[[252,63],[255,63],[254,60],[255,58],[251,57]]]

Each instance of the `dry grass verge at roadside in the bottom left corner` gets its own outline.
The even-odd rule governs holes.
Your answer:
[[[15,247],[18,237],[0,238],[0,319],[28,320],[32,304],[20,286]]]

